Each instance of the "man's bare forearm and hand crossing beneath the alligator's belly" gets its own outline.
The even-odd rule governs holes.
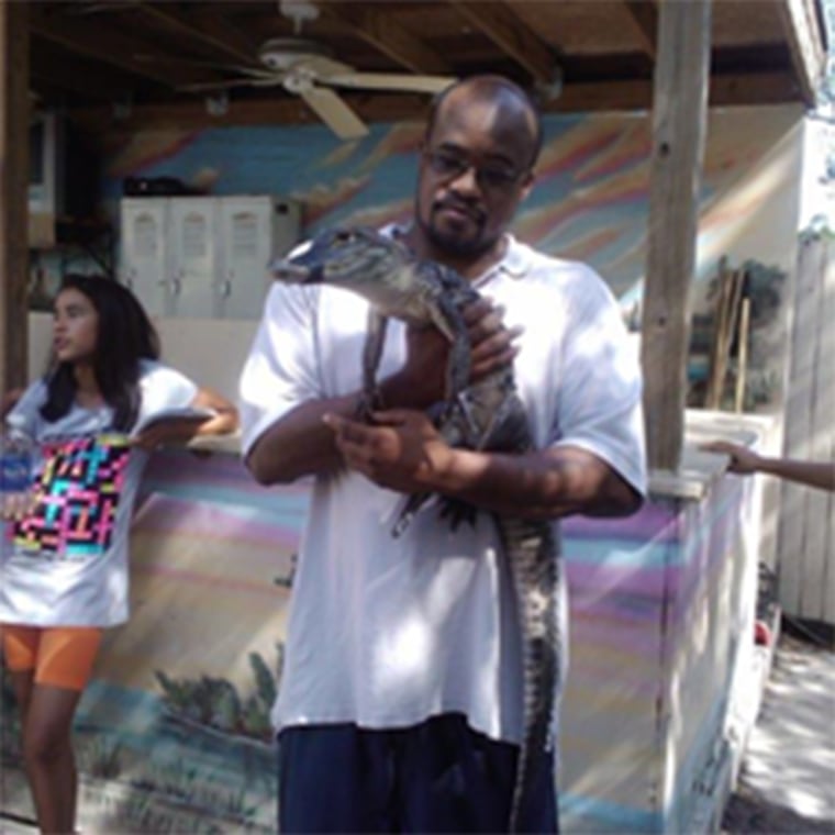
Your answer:
[[[324,421],[346,465],[390,490],[437,492],[527,519],[627,515],[641,505],[641,496],[625,479],[578,447],[523,455],[457,449],[412,410],[376,413],[376,425],[337,414],[326,414]]]

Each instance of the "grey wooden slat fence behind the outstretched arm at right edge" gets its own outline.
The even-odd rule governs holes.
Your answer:
[[[835,466],[835,244],[803,243],[798,263],[783,454]],[[835,493],[781,486],[780,603],[835,624]]]

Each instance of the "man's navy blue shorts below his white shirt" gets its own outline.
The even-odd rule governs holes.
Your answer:
[[[413,727],[285,728],[278,737],[281,833],[508,831],[519,748],[445,714]],[[552,754],[537,764],[520,831],[557,833]]]

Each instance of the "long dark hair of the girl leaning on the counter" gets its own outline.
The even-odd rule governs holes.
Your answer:
[[[118,281],[103,276],[70,274],[62,290],[78,290],[99,314],[99,334],[92,367],[104,402],[113,410],[112,428],[126,432],[136,422],[142,393],[140,360],[159,357],[159,337],[136,297]],[[71,363],[58,363],[47,375],[47,398],[41,407],[46,421],[69,412],[76,399]]]

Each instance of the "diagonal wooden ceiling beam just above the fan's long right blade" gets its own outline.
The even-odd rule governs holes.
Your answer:
[[[454,75],[452,66],[439,53],[385,11],[359,3],[323,3],[320,9],[323,16],[338,22],[352,35],[412,73]]]

